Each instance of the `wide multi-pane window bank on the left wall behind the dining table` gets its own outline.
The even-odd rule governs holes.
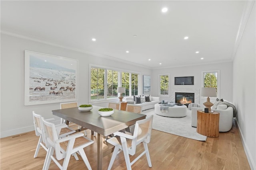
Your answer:
[[[90,101],[117,98],[120,86],[125,87],[123,96],[139,94],[140,74],[100,67],[90,66]]]

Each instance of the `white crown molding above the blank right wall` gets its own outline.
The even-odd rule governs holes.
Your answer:
[[[240,41],[242,39],[242,36],[244,34],[244,30],[246,28],[246,24],[249,20],[250,14],[252,12],[252,8],[255,4],[255,0],[248,0],[246,1],[246,4],[244,5],[244,10],[242,13],[242,17],[240,20],[240,24],[239,24],[239,28],[238,28],[238,32],[236,35],[236,41],[235,41],[235,45],[234,45],[234,51],[232,54],[232,59],[234,59],[235,55],[236,55],[236,51],[240,45]]]

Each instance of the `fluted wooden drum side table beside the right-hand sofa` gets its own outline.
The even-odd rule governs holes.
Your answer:
[[[198,110],[196,132],[207,137],[219,137],[219,119],[220,113],[216,111],[204,113]]]

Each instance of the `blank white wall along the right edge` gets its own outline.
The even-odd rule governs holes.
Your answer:
[[[237,122],[251,169],[256,169],[256,14],[255,3],[233,64]]]

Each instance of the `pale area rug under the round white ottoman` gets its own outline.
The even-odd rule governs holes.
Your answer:
[[[197,141],[206,141],[206,136],[196,132],[196,127],[191,126],[191,110],[187,109],[186,117],[164,117],[157,115],[154,109],[142,111],[145,115],[153,116],[152,129],[194,139]]]

